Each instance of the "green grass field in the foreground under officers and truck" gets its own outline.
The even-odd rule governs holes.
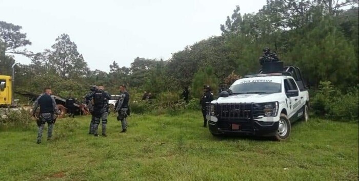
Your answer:
[[[214,138],[200,112],[131,115],[127,133],[110,117],[108,137],[89,117],[56,122],[54,140],[36,130],[0,132],[0,180],[357,180],[358,125],[311,119],[290,139]],[[47,126],[46,126],[47,127]],[[101,130],[101,128],[99,129]],[[45,130],[47,131],[47,129]]]

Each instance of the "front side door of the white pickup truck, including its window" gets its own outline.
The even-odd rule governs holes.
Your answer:
[[[301,99],[299,98],[299,89],[292,78],[284,80],[284,88],[287,95],[286,102],[289,108],[288,117],[291,121],[294,121],[297,119],[297,111],[302,107]],[[296,93],[289,95],[290,90],[295,90]]]

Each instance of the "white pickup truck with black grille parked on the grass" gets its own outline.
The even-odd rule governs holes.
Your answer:
[[[299,69],[292,68],[297,75],[295,70]],[[229,93],[222,92],[218,99],[207,104],[210,132],[213,135],[238,133],[286,140],[291,123],[308,120],[308,90],[301,77],[296,77],[297,81],[293,77],[289,71],[288,74],[249,75],[235,81]]]

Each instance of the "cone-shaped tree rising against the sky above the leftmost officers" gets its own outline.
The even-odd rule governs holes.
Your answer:
[[[59,76],[63,79],[85,76],[88,67],[82,54],[77,51],[76,44],[70,40],[69,35],[62,34],[56,38],[54,49],[48,55],[50,64],[54,65]]]

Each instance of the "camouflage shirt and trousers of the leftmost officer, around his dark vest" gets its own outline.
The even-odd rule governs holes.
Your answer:
[[[35,114],[36,109],[38,108],[38,106],[41,106],[42,103],[39,103],[39,99],[42,98],[45,94],[40,95],[39,97],[37,97],[37,99],[35,100],[35,103],[32,107],[33,110],[33,114]],[[40,114],[38,115],[38,118],[36,120],[37,126],[38,126],[38,131],[37,131],[37,143],[41,143],[41,139],[43,136],[43,130],[45,127],[45,123],[47,123],[48,125],[48,131],[47,131],[47,140],[50,140],[52,137],[52,130],[53,130],[53,125],[55,123],[57,114],[58,114],[58,109],[57,109],[57,105],[56,105],[56,101],[53,97],[51,97],[52,100],[52,104],[51,105],[47,105],[47,106],[51,106],[51,111],[43,111],[40,108]]]

